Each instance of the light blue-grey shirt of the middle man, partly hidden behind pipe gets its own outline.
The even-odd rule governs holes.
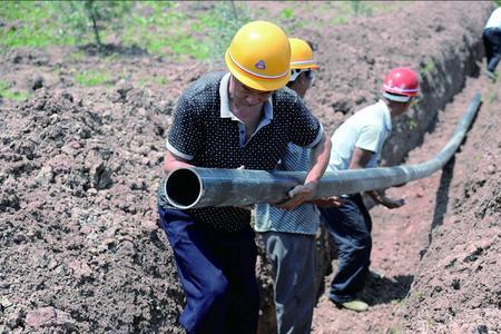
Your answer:
[[[287,146],[279,170],[308,170],[310,149],[294,144]],[[255,229],[257,232],[285,232],[315,235],[320,227],[320,213],[315,205],[302,204],[293,210],[285,210],[268,204],[256,205]]]

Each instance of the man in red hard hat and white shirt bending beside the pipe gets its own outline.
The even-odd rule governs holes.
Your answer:
[[[404,114],[418,95],[418,75],[409,68],[395,68],[384,79],[383,98],[342,124],[332,136],[330,170],[376,167],[384,141],[392,130],[392,119]],[[327,169],[328,170],[328,169]],[[366,191],[377,204],[397,208],[403,199],[392,199],[382,191]],[[342,195],[340,207],[320,209],[338,249],[338,271],[328,297],[338,307],[357,312],[369,305],[356,299],[369,274],[372,220],[361,194]]]

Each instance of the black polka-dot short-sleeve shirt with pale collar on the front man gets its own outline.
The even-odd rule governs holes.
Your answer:
[[[179,97],[167,149],[189,164],[206,168],[272,170],[288,143],[313,147],[323,129],[302,99],[279,89],[265,104],[263,117],[249,140],[245,125],[233,115],[228,99],[229,73],[214,72],[195,81]],[[159,205],[169,207],[159,193]],[[249,210],[237,207],[184,209],[195,220],[223,230],[238,230],[250,222]]]

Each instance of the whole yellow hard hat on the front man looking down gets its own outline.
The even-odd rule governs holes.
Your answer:
[[[232,75],[247,87],[271,91],[291,77],[291,46],[276,24],[254,21],[242,27],[225,55]]]

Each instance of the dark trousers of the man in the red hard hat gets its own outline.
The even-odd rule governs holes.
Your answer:
[[[321,208],[338,252],[338,269],[331,284],[335,303],[353,301],[364,287],[371,264],[372,220],[360,194],[344,198],[341,207]]]

